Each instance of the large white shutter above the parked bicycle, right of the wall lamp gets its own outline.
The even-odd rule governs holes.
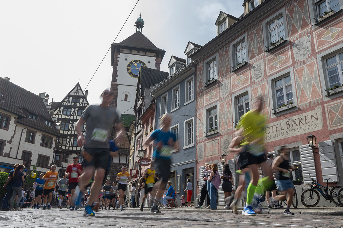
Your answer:
[[[329,182],[338,182],[338,172],[332,140],[319,142],[318,147],[323,182],[326,183],[326,180],[324,179],[329,177],[331,178]]]

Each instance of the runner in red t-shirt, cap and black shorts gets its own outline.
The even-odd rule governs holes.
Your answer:
[[[83,172],[82,166],[78,162],[79,162],[79,157],[74,156],[73,164],[69,164],[66,170],[66,175],[69,182],[69,189],[71,191],[71,199],[73,198],[76,186],[78,186],[78,178],[81,176]],[[70,211],[73,211],[74,209],[78,210],[79,206],[76,204],[71,205]]]

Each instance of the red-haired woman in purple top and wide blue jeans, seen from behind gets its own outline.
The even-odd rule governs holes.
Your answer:
[[[211,210],[217,209],[217,192],[219,189],[220,183],[222,183],[219,173],[217,164],[211,165],[212,172],[210,173],[209,179],[207,180],[207,186],[209,189],[209,195],[210,195],[210,205]]]

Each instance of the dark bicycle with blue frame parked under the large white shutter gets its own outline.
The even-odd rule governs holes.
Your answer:
[[[328,182],[331,178],[324,179],[326,180],[326,187],[324,187],[321,184],[318,184],[317,180],[312,178],[311,175],[309,175],[309,177],[312,179],[311,187],[303,191],[303,193],[301,193],[301,196],[300,196],[301,203],[303,203],[304,206],[307,206],[307,207],[316,206],[320,199],[319,193],[324,199],[330,200],[330,202],[332,201],[334,204],[336,204],[336,206],[343,206],[343,204],[336,202],[334,199],[334,198],[337,198],[338,192],[341,189],[341,186],[334,186],[333,188],[329,189]]]

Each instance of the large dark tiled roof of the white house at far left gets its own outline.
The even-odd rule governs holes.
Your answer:
[[[55,123],[52,121],[42,97],[1,77],[0,94],[0,108],[18,115],[18,123],[59,136]],[[37,120],[29,119],[29,112],[37,115]],[[46,125],[45,120],[50,121],[52,125]]]

